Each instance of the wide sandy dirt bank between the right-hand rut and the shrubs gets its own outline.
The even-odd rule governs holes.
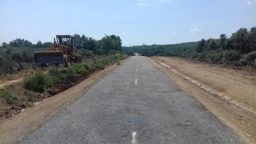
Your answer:
[[[256,110],[256,77],[213,64],[191,63],[179,58],[154,57],[180,73]]]

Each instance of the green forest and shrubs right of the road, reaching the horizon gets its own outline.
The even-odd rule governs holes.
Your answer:
[[[207,63],[232,62],[235,65],[251,66],[256,69],[256,27],[240,28],[230,38],[221,34],[219,39],[202,39],[172,45],[145,45],[123,47],[123,52],[142,56],[177,56]]]

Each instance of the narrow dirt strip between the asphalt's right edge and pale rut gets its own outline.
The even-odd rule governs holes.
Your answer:
[[[241,111],[230,104],[223,104],[224,101],[221,99],[218,99],[211,93],[208,93],[195,84],[190,83],[154,59],[149,57],[147,58],[154,66],[166,74],[170,80],[173,81],[182,91],[202,104],[202,106],[204,106],[210,113],[212,113],[214,117],[217,118],[223,125],[232,129],[232,131],[237,136],[239,136],[242,143],[255,143],[255,140],[249,136],[249,130],[243,129],[244,126],[248,126],[250,125],[250,122],[255,121],[255,118],[251,114],[248,114],[245,111]],[[243,115],[242,120],[244,122],[240,123],[234,121],[234,119],[241,119],[239,116],[241,114]]]

